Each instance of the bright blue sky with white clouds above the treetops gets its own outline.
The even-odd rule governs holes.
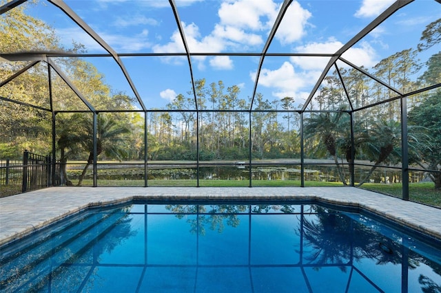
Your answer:
[[[66,0],[65,3],[117,53],[185,52],[176,21],[166,0]],[[260,53],[280,10],[273,0],[176,1],[189,50],[199,53]],[[269,47],[271,53],[336,52],[393,3],[390,0],[293,1]],[[81,28],[51,3],[42,2],[30,14],[54,26],[61,42],[82,43],[88,53],[105,53]],[[382,58],[416,47],[425,26],[438,19],[441,5],[416,0],[399,10],[343,57],[370,69]],[[433,50],[438,50],[435,48]],[[433,52],[420,56],[427,61]],[[133,96],[112,58],[87,58],[116,91]],[[164,108],[176,94],[192,87],[185,57],[123,57],[147,109]],[[194,78],[238,85],[240,97],[252,96],[259,58],[256,56],[193,56]],[[301,104],[314,87],[328,58],[267,57],[257,91],[268,100],[294,97]]]

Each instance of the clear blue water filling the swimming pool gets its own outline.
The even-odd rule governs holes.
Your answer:
[[[1,292],[441,292],[437,246],[314,203],[132,202],[2,247]]]

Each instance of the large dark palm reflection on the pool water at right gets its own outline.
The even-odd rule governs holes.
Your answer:
[[[331,263],[349,263],[362,259],[375,259],[376,264],[400,264],[402,261],[399,237],[397,241],[381,235],[362,221],[354,221],[344,213],[336,213],[322,206],[314,206],[317,213],[312,219],[304,217],[303,246],[311,248],[305,257],[309,263],[317,265]],[[360,218],[361,220],[363,218]],[[416,263],[409,263],[409,268],[416,268]],[[346,267],[340,267],[345,270]]]

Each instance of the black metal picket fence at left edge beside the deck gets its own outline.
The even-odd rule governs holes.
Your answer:
[[[20,186],[21,192],[52,186],[52,158],[23,152],[23,160],[0,160],[0,186]]]

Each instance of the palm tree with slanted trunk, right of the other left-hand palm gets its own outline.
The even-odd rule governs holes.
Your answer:
[[[85,173],[88,171],[90,164],[94,162],[94,144],[92,135],[93,123],[85,119],[85,129],[87,129],[87,137],[83,140],[83,148],[89,152],[88,162],[85,165],[83,172],[79,177],[78,186],[81,186]],[[130,129],[125,125],[121,125],[110,116],[97,116],[96,118],[96,156],[105,153],[107,157],[121,160],[127,153],[123,149],[123,142],[125,142],[124,135],[130,133]]]

